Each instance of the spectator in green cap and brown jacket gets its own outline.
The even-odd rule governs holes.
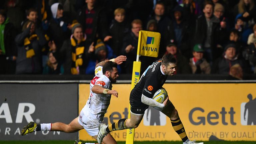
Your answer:
[[[196,44],[193,47],[193,57],[189,60],[193,74],[210,74],[210,64],[203,58],[204,49],[201,44]]]

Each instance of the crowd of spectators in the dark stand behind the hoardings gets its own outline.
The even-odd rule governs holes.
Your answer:
[[[177,74],[256,73],[256,0],[3,0],[0,74],[93,74],[118,55],[132,73],[140,30],[161,34]],[[234,66],[234,67],[233,67]],[[242,78],[237,79],[242,79]]]

